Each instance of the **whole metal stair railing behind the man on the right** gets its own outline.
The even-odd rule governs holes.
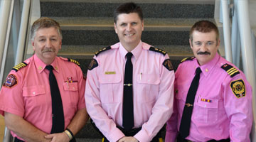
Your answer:
[[[221,0],[222,11],[223,11],[223,29],[224,35],[228,38],[224,38],[225,43],[230,43],[230,27],[226,25],[230,25],[229,16],[226,17],[229,11],[228,0]],[[232,23],[232,53],[235,65],[238,67],[240,61],[240,50],[242,55],[242,68],[245,76],[247,77],[248,82],[250,82],[252,86],[252,110],[253,110],[253,125],[251,132],[251,141],[256,141],[256,101],[255,101],[255,88],[256,88],[256,77],[255,77],[255,57],[253,53],[252,47],[252,37],[251,37],[251,28],[250,28],[250,18],[249,18],[249,7],[247,0],[234,0],[233,1],[233,23]],[[226,46],[226,56],[230,58],[231,47],[229,45]],[[238,58],[238,59],[236,59]]]

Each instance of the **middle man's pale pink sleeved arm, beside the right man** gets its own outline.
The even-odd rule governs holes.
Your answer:
[[[168,55],[166,55],[162,62],[168,58]],[[142,125],[142,130],[134,137],[139,141],[151,141],[173,113],[173,102],[174,70],[167,70],[164,65],[161,65],[159,94],[158,97],[156,97],[156,103],[151,109],[149,121],[146,121],[146,123]]]

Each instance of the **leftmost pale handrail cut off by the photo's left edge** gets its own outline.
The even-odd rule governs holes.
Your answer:
[[[11,9],[11,1],[0,1],[0,68],[2,62],[2,56],[4,52],[5,41],[6,41],[6,31],[8,26],[9,13]]]

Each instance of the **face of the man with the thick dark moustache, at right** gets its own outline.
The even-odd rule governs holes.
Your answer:
[[[193,31],[193,40],[190,39],[189,43],[199,65],[205,65],[215,57],[220,47],[220,40],[216,40],[216,36],[215,31],[208,33]]]

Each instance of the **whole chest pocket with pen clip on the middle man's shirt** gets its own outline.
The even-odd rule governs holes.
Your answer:
[[[136,86],[138,92],[136,100],[138,102],[155,101],[159,94],[160,78],[157,74],[138,74],[136,77]]]

